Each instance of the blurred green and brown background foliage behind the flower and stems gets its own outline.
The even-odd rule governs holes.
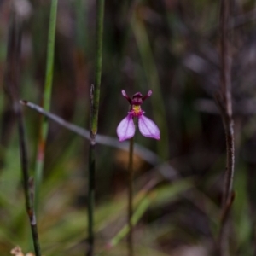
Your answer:
[[[231,255],[256,253],[255,1],[232,7],[232,95],[236,131],[236,200]],[[15,116],[3,90],[11,13],[22,26],[20,98],[40,104],[50,1],[0,1],[0,252],[32,250],[21,186]],[[224,128],[213,96],[219,88],[219,1],[106,1],[98,132],[116,137],[128,95],[154,91],[143,110],[161,131],[136,143],[137,255],[212,255],[225,168]],[[51,112],[88,129],[94,83],[96,1],[59,1]],[[24,108],[30,172],[38,113]],[[44,255],[84,255],[88,141],[49,121],[38,231]],[[125,255],[128,154],[96,146],[96,253]],[[121,233],[119,231],[121,230]],[[123,232],[123,233],[122,233]],[[123,234],[123,235],[122,235]]]

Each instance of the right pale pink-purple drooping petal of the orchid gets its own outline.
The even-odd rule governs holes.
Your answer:
[[[160,140],[160,131],[157,125],[151,119],[146,118],[143,114],[138,118],[138,126],[142,135]]]

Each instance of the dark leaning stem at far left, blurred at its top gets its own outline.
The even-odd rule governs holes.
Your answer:
[[[32,230],[32,241],[36,256],[41,255],[38,227],[33,207],[33,186],[29,181],[28,158],[26,150],[25,129],[23,116],[19,103],[19,81],[20,81],[20,49],[21,49],[21,26],[19,17],[14,13],[9,27],[7,68],[5,72],[5,89],[15,113],[18,123],[19,145],[20,145],[20,165],[23,177],[23,188],[25,194],[26,212]]]

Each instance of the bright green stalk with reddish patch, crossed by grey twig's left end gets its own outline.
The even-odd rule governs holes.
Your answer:
[[[57,16],[58,0],[52,0],[49,15],[49,34],[47,44],[47,61],[46,61],[46,74],[44,84],[44,96],[42,106],[46,111],[50,108],[50,99],[52,91],[52,79],[54,73],[54,55],[55,55],[55,27]],[[41,119],[39,126],[39,139],[38,139],[38,154],[36,160],[36,172],[35,172],[35,207],[38,210],[39,192],[43,179],[44,168],[44,154],[45,144],[48,134],[48,121],[47,119]]]

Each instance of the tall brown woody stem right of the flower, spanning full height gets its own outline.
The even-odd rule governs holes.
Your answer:
[[[218,106],[224,123],[226,137],[226,172],[224,177],[224,194],[222,200],[222,219],[218,236],[219,255],[229,256],[229,215],[234,200],[233,177],[235,170],[234,120],[232,117],[231,96],[231,55],[230,55],[230,6],[231,0],[221,0],[220,14],[220,63],[221,90],[217,96]]]

